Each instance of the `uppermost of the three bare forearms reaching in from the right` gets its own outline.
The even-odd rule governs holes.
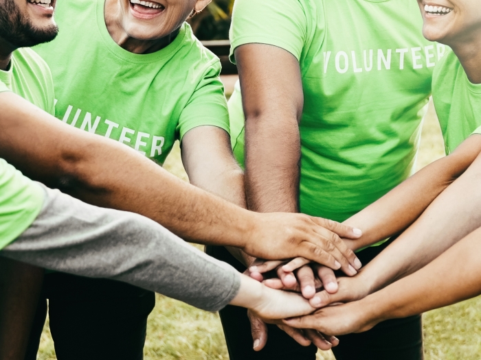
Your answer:
[[[481,136],[470,136],[456,151],[428,165],[367,208],[345,221],[363,231],[357,250],[387,239],[410,226],[427,206],[456,180],[481,152]]]

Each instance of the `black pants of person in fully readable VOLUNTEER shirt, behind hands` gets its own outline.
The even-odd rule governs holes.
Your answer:
[[[363,265],[374,259],[387,245],[368,248],[357,254]],[[245,266],[225,248],[208,246],[206,252],[214,258],[230,263],[239,272]],[[268,324],[268,340],[264,349],[252,349],[253,340],[247,310],[227,306],[220,311],[225,339],[231,360],[315,360],[317,348],[300,346],[275,325]],[[370,331],[338,337],[339,346],[333,348],[337,360],[421,360],[423,359],[423,326],[421,315],[388,320]]]

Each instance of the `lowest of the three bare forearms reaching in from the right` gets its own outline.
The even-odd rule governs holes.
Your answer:
[[[481,293],[481,229],[423,269],[361,300],[376,322],[445,307]]]

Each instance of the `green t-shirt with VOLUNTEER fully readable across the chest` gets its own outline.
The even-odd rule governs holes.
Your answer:
[[[236,47],[263,43],[300,62],[302,213],[343,221],[412,173],[432,68],[445,51],[421,28],[416,1],[236,0],[231,60]],[[229,106],[243,163],[238,91]]]

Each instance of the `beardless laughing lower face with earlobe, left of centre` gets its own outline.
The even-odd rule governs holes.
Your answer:
[[[137,40],[156,40],[175,32],[192,11],[203,10],[211,0],[116,1],[120,9],[120,26],[128,36]]]

